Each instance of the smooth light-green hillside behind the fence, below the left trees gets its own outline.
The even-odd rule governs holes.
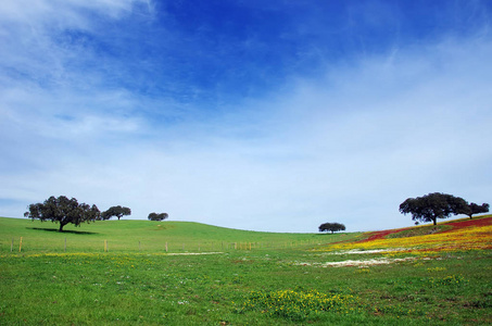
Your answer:
[[[192,222],[98,221],[64,233],[58,224],[0,217],[0,254],[18,252],[203,252],[311,246],[357,234],[276,234],[230,229]],[[65,247],[66,239],[66,247]],[[14,244],[12,244],[12,241]],[[66,249],[65,249],[66,248]]]

